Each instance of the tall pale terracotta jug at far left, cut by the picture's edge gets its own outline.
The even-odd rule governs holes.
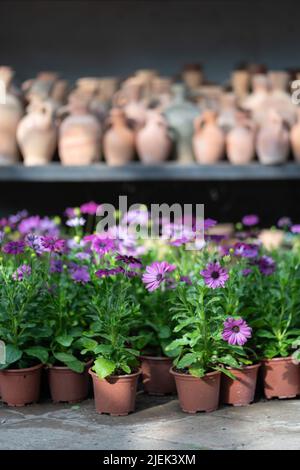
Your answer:
[[[10,67],[0,67],[0,165],[11,165],[18,160],[16,131],[23,107],[11,93],[13,75]]]

